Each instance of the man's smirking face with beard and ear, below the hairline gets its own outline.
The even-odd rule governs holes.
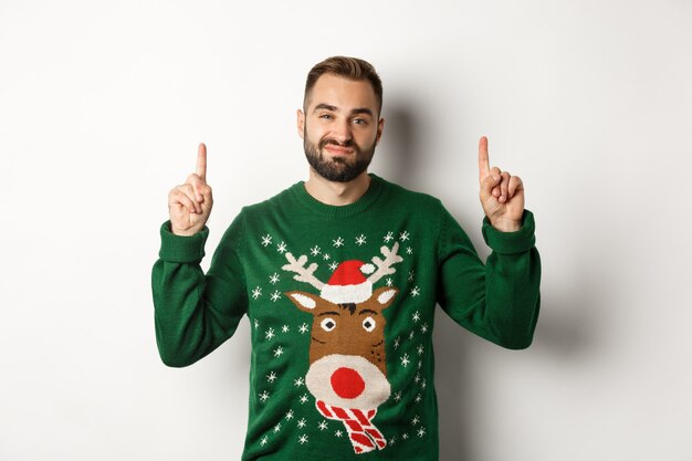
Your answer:
[[[298,111],[297,128],[313,170],[335,182],[364,174],[379,143],[385,121],[368,81],[324,74]]]

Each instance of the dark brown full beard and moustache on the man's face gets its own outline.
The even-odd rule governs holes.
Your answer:
[[[356,179],[361,172],[368,169],[373,156],[375,155],[375,143],[373,143],[370,148],[365,150],[353,140],[339,143],[334,138],[323,138],[315,145],[307,138],[306,129],[304,130],[303,139],[305,158],[307,158],[310,166],[317,175],[334,182],[348,182]],[[325,158],[323,149],[329,144],[353,149],[353,157],[355,157],[355,159],[349,157]]]

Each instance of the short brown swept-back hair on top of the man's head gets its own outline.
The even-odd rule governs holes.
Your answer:
[[[319,78],[324,74],[334,74],[338,76],[343,76],[349,80],[367,80],[373,85],[373,90],[375,90],[375,95],[377,96],[377,102],[379,103],[378,112],[382,112],[382,82],[379,80],[379,75],[375,72],[375,67],[364,60],[358,57],[348,57],[348,56],[332,56],[326,60],[315,64],[313,69],[307,73],[307,81],[305,82],[305,96],[303,99],[303,108],[306,109],[305,103],[307,102],[307,96],[315,86],[317,78]]]

